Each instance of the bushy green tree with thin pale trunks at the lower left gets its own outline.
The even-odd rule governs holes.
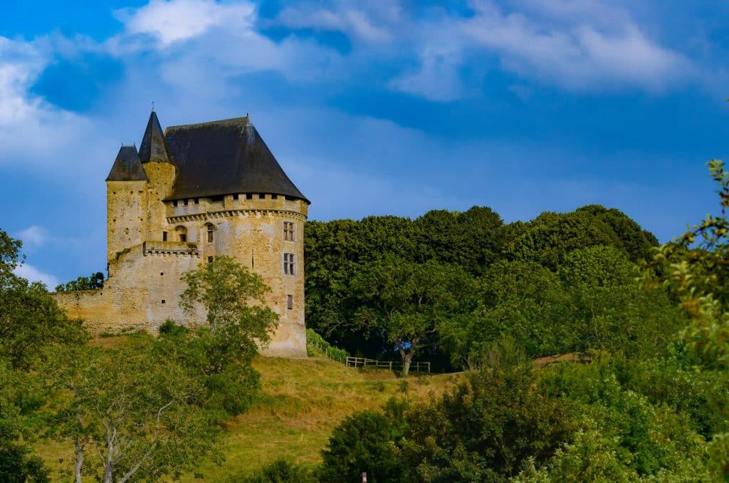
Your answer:
[[[59,351],[47,366],[55,390],[49,435],[72,441],[74,478],[158,479],[192,468],[212,449],[219,412],[206,409],[204,379],[157,342],[138,336],[114,348]]]

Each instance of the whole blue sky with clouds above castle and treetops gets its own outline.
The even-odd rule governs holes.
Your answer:
[[[104,179],[163,125],[249,112],[317,220],[717,206],[725,1],[5,0],[0,228],[54,286],[106,266]]]

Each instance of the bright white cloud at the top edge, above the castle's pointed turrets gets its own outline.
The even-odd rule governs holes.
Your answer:
[[[151,0],[139,9],[117,12],[128,34],[153,36],[163,48],[200,36],[214,26],[249,28],[254,14],[249,2],[218,4],[213,0]]]

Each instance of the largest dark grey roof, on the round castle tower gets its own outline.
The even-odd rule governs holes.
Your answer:
[[[165,138],[177,166],[169,200],[276,193],[309,202],[286,176],[247,116],[171,126],[165,130]]]

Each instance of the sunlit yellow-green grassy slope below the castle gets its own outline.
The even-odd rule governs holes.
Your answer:
[[[99,339],[97,344],[113,344]],[[254,407],[231,420],[225,436],[225,462],[209,458],[200,462],[198,479],[186,474],[182,481],[216,481],[228,474],[253,471],[279,458],[316,464],[330,433],[348,414],[383,406],[394,395],[425,398],[442,393],[456,376],[410,376],[400,379],[386,371],[358,371],[323,357],[307,359],[254,359],[260,371],[262,391]],[[70,471],[71,447],[39,445],[39,454],[54,469]]]

